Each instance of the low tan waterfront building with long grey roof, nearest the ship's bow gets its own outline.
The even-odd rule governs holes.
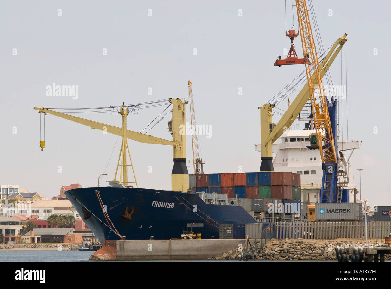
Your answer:
[[[74,228],[34,229],[28,231],[22,241],[25,243],[81,243],[82,234],[75,234]]]

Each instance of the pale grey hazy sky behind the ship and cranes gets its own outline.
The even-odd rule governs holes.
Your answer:
[[[301,65],[273,66],[289,49],[285,29],[293,24],[290,1],[286,17],[282,0],[37,3],[0,2],[0,184],[53,197],[63,185],[96,186],[104,172],[108,175],[102,182],[114,177],[120,148],[116,135],[47,115],[46,147],[41,151],[39,113],[33,107],[108,107],[188,98],[188,79],[197,123],[212,129],[209,138],[199,136],[205,173],[237,172],[239,166],[243,172],[259,170],[260,152],[254,146],[260,143],[259,104],[304,70]],[[355,182],[356,169],[362,168],[362,199],[390,205],[391,4],[312,3],[325,49],[348,34],[342,55],[329,71],[333,85],[346,85],[347,90],[340,102],[342,137],[363,141],[350,161]],[[299,38],[295,47],[301,57]],[[52,83],[77,86],[77,99],[48,95]],[[291,102],[300,89],[289,96]],[[278,107],[286,110],[287,99]],[[163,108],[129,115],[128,129],[140,132]],[[121,125],[115,114],[78,116]],[[279,117],[274,115],[275,123]],[[169,120],[170,115],[149,134],[171,139]],[[131,140],[129,148],[138,186],[170,190],[172,148]]]

